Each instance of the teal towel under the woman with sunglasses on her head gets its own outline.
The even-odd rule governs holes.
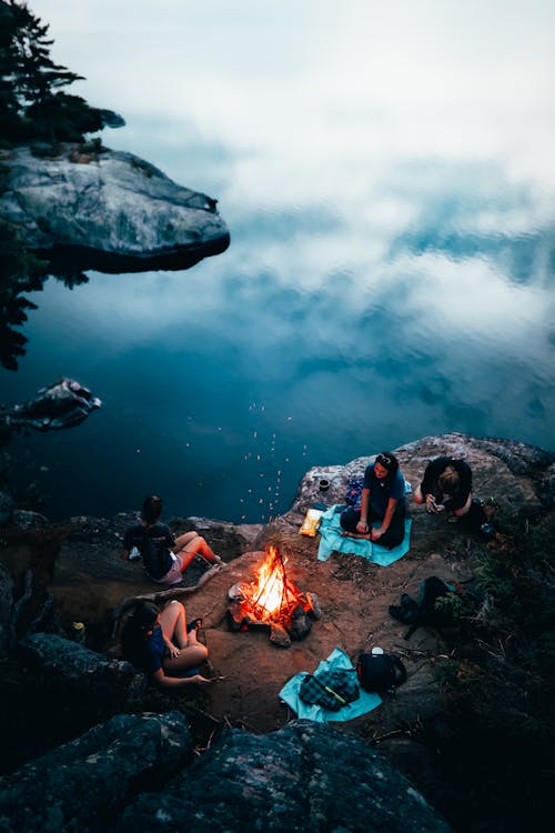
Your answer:
[[[330,506],[320,520],[319,561],[327,561],[333,552],[343,552],[361,555],[366,561],[371,561],[373,564],[379,564],[380,566],[389,566],[405,555],[411,549],[411,518],[405,520],[405,536],[403,541],[397,546],[394,546],[393,550],[387,550],[385,546],[380,546],[380,544],[374,544],[372,541],[366,541],[363,538],[342,535],[343,530],[340,523],[340,515],[343,509],[344,506],[337,504]]]

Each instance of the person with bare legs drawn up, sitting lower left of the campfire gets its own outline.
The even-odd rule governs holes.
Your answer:
[[[173,600],[160,611],[157,604],[141,600],[121,631],[123,656],[144,671],[163,689],[180,689],[211,681],[198,666],[208,658],[208,649],[198,640],[202,620],[186,626],[185,609]]]

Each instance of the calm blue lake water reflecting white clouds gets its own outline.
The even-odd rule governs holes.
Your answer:
[[[312,465],[450,431],[555,450],[555,4],[30,0],[108,147],[219,200],[229,250],[36,293],[11,445],[62,519],[263,521]]]

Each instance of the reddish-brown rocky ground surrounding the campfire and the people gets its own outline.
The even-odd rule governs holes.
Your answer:
[[[522,516],[523,529],[531,519],[553,508],[554,458],[539,449],[447,434],[410,443],[396,453],[413,486],[434,456],[464,458],[474,472],[475,494],[493,495],[501,511]],[[54,529],[36,515],[20,513],[17,528],[4,528],[2,562],[14,582],[14,598],[29,571],[34,576],[34,589],[27,610],[20,611],[17,629],[24,631],[37,616],[48,620],[50,613],[46,609],[51,595],[62,631],[70,633],[71,623],[82,621],[88,645],[114,655],[113,614],[125,600],[153,593],[158,599],[181,599],[189,618],[203,618],[202,638],[210,651],[208,671],[214,678],[210,688],[189,703],[190,714],[202,715],[202,729],[195,739],[199,749],[209,746],[214,733],[224,727],[241,727],[255,735],[285,727],[295,719],[279,699],[286,680],[299,671],[313,671],[335,646],[356,660],[359,652],[379,644],[402,656],[407,682],[394,695],[385,695],[382,705],[367,715],[334,725],[371,742],[426,797],[442,804],[452,787],[442,784],[434,751],[422,743],[418,730],[441,720],[443,699],[436,670],[448,660],[446,648],[438,634],[425,629],[405,640],[406,626],[389,614],[389,606],[398,603],[404,592],[416,596],[420,583],[430,575],[446,581],[471,580],[476,552],[484,545],[494,546],[495,541],[485,544],[410,501],[411,550],[400,561],[381,568],[355,555],[335,553],[329,561],[319,562],[319,536],[299,534],[306,509],[322,502],[319,482],[321,478],[331,481],[325,493],[327,505],[342,503],[347,480],[362,474],[367,462],[367,458],[360,458],[345,466],[311,470],[290,512],[269,526],[174,519],[176,531],[194,526],[204,534],[226,565],[210,574],[209,580],[202,579],[203,568],[192,565],[186,573],[189,586],[170,591],[161,592],[148,581],[140,563],[121,560],[122,535],[134,520],[129,514],[71,519]],[[279,544],[287,556],[287,574],[302,591],[317,595],[322,610],[321,619],[305,639],[286,649],[272,644],[266,631],[236,633],[228,624],[228,591],[236,583],[252,581],[268,541]],[[188,704],[181,696],[171,700],[171,707],[184,707],[186,712]],[[168,696],[150,691],[141,703],[163,711],[160,704],[168,707]],[[137,710],[138,703],[129,694],[123,706]]]

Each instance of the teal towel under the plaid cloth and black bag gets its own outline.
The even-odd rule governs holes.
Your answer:
[[[339,671],[340,669],[352,668],[353,664],[346,653],[341,648],[334,648],[327,660],[322,660],[314,673],[317,674],[319,671]],[[361,696],[359,700],[354,700],[352,703],[342,706],[339,712],[330,712],[327,709],[322,709],[321,705],[305,703],[299,696],[299,690],[306,674],[306,671],[301,671],[299,674],[292,676],[278,695],[280,700],[283,700],[283,702],[286,703],[300,719],[313,720],[317,723],[327,723],[332,720],[344,723],[347,720],[354,720],[354,717],[360,717],[361,714],[371,712],[382,702],[380,694],[361,689]]]

